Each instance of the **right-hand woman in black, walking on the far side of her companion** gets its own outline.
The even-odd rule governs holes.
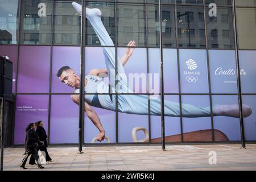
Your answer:
[[[41,142],[44,142],[44,145],[42,147],[40,147],[41,151],[46,152],[46,162],[53,162],[53,160],[50,158],[48,151],[47,151],[47,134],[46,134],[46,130],[44,130],[44,124],[42,121],[38,121],[36,123],[36,134],[38,135],[38,138]]]

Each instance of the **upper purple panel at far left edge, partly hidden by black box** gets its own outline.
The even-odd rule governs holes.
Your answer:
[[[0,56],[8,56],[13,62],[13,80],[16,80],[18,46],[0,46]],[[13,93],[15,93],[15,81],[13,81]]]

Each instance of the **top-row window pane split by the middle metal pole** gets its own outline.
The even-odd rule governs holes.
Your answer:
[[[175,7],[162,6],[163,47],[175,48]],[[148,5],[148,46],[159,47],[159,6]]]

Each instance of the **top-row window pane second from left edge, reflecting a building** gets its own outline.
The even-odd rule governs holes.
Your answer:
[[[52,1],[22,1],[21,10],[20,43],[51,44]]]

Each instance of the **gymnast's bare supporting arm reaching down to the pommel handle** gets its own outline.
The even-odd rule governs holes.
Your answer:
[[[73,102],[75,102],[77,105],[79,105],[79,95],[72,95],[71,99]],[[89,104],[84,102],[84,110],[90,121],[93,122],[93,124],[97,127],[97,129],[100,131],[100,133],[97,135],[98,141],[102,141],[105,138],[105,130],[103,126],[101,125],[100,118],[98,117],[95,110],[90,107]]]

